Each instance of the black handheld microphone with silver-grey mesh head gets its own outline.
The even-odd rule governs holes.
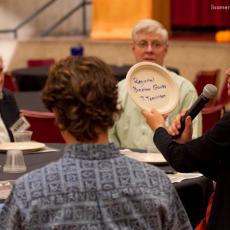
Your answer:
[[[192,107],[185,113],[184,116],[181,117],[180,123],[181,127],[178,130],[179,133],[175,136],[172,136],[173,139],[177,139],[181,136],[181,134],[184,131],[185,128],[185,119],[187,116],[190,116],[192,120],[196,117],[196,115],[204,108],[204,106],[208,103],[210,99],[213,99],[217,94],[217,88],[216,86],[212,84],[207,84],[203,88],[203,92],[201,95],[197,98],[197,100],[194,102]]]

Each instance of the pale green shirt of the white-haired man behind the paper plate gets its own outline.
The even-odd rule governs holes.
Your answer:
[[[168,114],[166,125],[174,121],[182,109],[189,109],[197,99],[194,86],[187,79],[169,71],[179,90],[179,101],[173,111]],[[153,146],[153,131],[141,114],[141,109],[133,102],[126,89],[126,79],[118,83],[119,101],[124,112],[121,114],[114,127],[109,130],[109,139],[117,147],[147,149]],[[202,117],[199,114],[193,120],[193,138],[202,134]],[[155,147],[155,146],[154,146]],[[155,150],[156,147],[155,147]]]

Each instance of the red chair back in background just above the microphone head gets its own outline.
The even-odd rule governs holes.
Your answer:
[[[218,77],[220,74],[220,69],[215,70],[202,70],[196,74],[193,85],[195,86],[198,95],[203,91],[203,88],[206,84],[217,85]]]

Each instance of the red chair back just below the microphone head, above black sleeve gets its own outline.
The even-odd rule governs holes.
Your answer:
[[[208,129],[212,128],[217,121],[220,120],[224,113],[224,105],[212,105],[202,109],[202,131],[205,133]]]

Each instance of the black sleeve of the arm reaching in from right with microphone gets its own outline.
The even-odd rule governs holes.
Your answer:
[[[177,171],[199,171],[215,179],[221,162],[230,161],[230,113],[203,136],[186,144],[176,143],[164,128],[156,130],[153,140]]]

